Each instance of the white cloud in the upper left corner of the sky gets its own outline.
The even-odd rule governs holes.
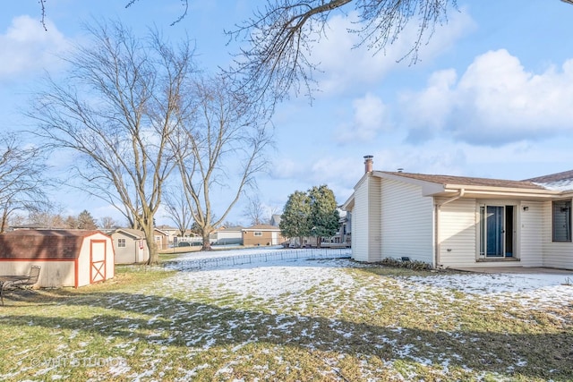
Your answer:
[[[47,21],[47,31],[30,16],[13,18],[12,24],[0,34],[0,80],[49,69],[59,64],[57,55],[69,46],[64,35]]]

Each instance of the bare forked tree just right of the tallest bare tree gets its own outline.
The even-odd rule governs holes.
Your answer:
[[[194,113],[186,116],[187,123],[172,136],[172,143],[203,250],[210,250],[210,233],[225,221],[245,188],[254,184],[254,175],[267,165],[268,118],[220,76],[196,81],[191,93],[197,100]],[[216,188],[227,195],[218,215],[211,204]],[[218,202],[221,206],[222,200]]]

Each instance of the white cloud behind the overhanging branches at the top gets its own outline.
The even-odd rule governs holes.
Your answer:
[[[357,47],[360,36],[348,30],[360,29],[357,14],[334,16],[329,21],[326,37],[321,38],[312,49],[312,62],[319,64],[322,74],[318,75],[319,88],[325,94],[340,93],[347,89],[372,88],[372,83],[381,81],[390,71],[406,68],[408,57],[417,38],[418,26],[413,21],[400,32],[399,38],[381,52]],[[448,50],[454,43],[475,28],[475,23],[466,12],[452,12],[448,24],[439,26],[432,36],[423,38],[419,59],[422,64]]]

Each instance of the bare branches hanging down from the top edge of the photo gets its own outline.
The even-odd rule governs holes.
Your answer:
[[[290,89],[312,92],[312,72],[317,68],[310,55],[312,45],[325,36],[329,17],[354,7],[359,45],[383,52],[410,22],[418,27],[406,57],[415,63],[424,36],[430,38],[436,25],[447,21],[456,0],[268,0],[251,19],[228,31],[230,38],[246,40],[247,47],[235,60],[229,74],[243,81],[246,91],[271,102],[287,97]]]

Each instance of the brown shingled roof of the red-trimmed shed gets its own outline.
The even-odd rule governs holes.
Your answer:
[[[99,231],[18,230],[0,234],[0,259],[64,259],[80,256],[86,237]]]

